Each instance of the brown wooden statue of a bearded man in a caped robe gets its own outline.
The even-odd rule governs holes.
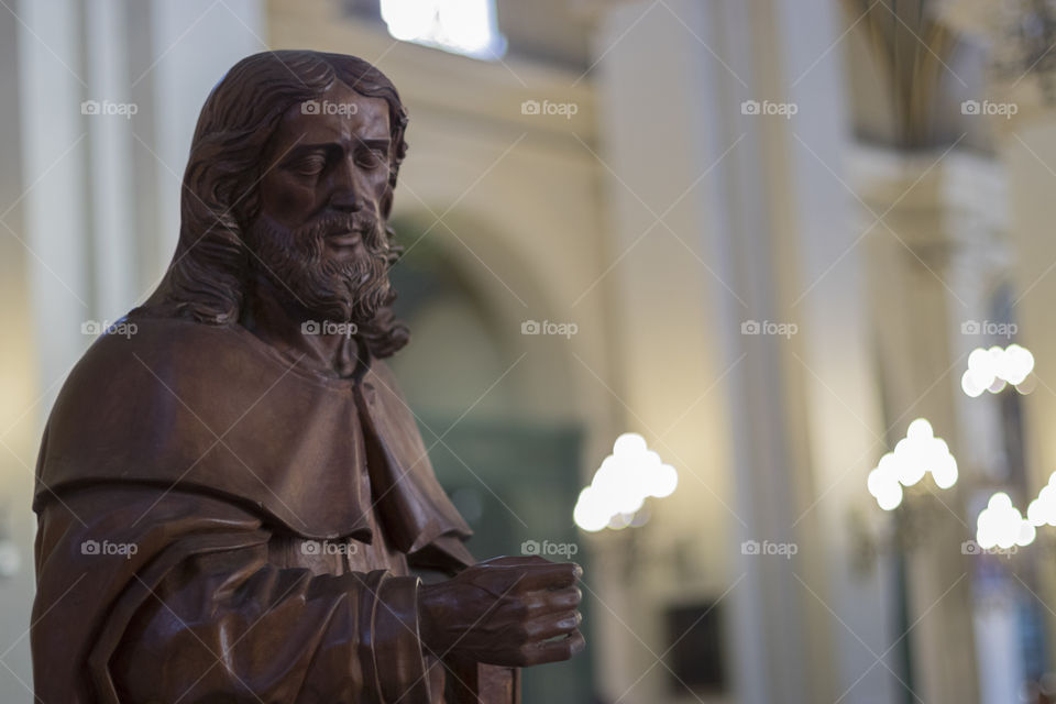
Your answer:
[[[382,361],[406,125],[338,54],[206,100],[173,262],[44,432],[37,701],[509,703],[582,650],[580,568],[473,559]]]

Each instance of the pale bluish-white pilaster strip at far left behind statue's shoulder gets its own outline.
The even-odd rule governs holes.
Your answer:
[[[81,334],[80,326],[96,314],[88,264],[88,127],[80,108],[87,77],[79,3],[21,2],[18,12],[25,188],[21,239],[30,254],[43,389],[64,375],[87,346],[89,338]],[[38,413],[46,414],[50,407],[45,403]]]

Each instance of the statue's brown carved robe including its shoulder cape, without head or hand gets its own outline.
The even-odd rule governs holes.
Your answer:
[[[517,671],[419,638],[413,568],[473,563],[380,360],[311,374],[244,328],[132,316],[37,461],[44,704],[506,704]]]

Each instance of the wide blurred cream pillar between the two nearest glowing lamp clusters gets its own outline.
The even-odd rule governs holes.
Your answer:
[[[692,437],[667,442],[675,461],[694,460],[679,465],[685,504],[658,507],[648,535],[707,536],[693,543],[707,578],[681,596],[733,587],[723,604],[738,702],[813,704],[848,689],[845,702],[889,701],[900,688],[872,667],[889,645],[886,575],[855,574],[847,536],[851,509],[870,508],[883,427],[860,231],[840,183],[842,31],[823,2],[636,3],[607,14],[596,48],[612,255],[630,250],[614,268],[627,404],[661,429],[697,404]],[[746,116],[745,100],[799,113]],[[741,334],[748,320],[799,332]],[[743,554],[743,540],[799,554]],[[642,594],[672,574],[642,578]],[[612,647],[625,660],[603,673],[607,693],[638,676],[644,650]],[[647,691],[662,697],[661,684]]]

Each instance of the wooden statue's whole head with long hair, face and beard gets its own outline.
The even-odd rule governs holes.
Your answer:
[[[407,151],[393,84],[354,56],[266,52],[231,68],[201,109],[179,241],[144,309],[238,322],[268,295],[304,320],[354,322],[382,356],[406,343],[387,220]]]

